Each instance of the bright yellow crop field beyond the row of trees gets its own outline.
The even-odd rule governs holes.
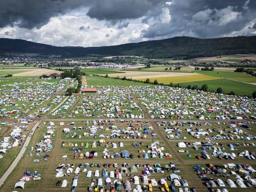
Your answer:
[[[175,76],[175,77],[163,77],[163,78],[149,78],[150,81],[154,81],[155,79],[158,83],[186,83],[192,81],[207,81],[207,80],[214,80],[214,79],[223,79],[219,77],[209,76],[209,75],[190,75],[190,76]],[[145,81],[146,79],[138,79]]]

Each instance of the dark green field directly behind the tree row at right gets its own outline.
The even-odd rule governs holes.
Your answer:
[[[193,81],[187,83],[179,83],[180,86],[186,87],[187,85],[198,85],[201,87],[203,84],[207,84],[209,90],[216,90],[218,87],[223,89],[224,93],[229,93],[234,91],[238,95],[251,95],[254,90],[256,90],[255,85],[250,85],[248,83],[243,83],[239,81],[232,81],[229,79],[215,79],[208,81]]]

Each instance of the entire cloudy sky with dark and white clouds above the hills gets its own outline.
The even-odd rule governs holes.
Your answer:
[[[0,37],[108,46],[256,35],[256,0],[0,0]]]

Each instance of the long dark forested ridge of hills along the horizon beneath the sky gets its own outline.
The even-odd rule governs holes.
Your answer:
[[[170,39],[127,43],[102,47],[58,47],[21,39],[0,38],[0,52],[58,54],[63,57],[100,55],[145,55],[148,58],[212,57],[226,54],[256,53],[256,36],[198,39],[173,37]]]

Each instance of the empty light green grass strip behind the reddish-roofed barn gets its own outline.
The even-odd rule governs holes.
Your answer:
[[[125,81],[121,79],[104,78],[98,76],[86,76],[87,85],[93,86],[148,86],[146,83],[139,83],[134,81]]]

